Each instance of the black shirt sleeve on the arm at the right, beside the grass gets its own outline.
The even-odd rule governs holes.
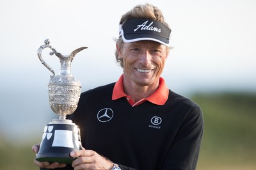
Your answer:
[[[198,105],[193,105],[170,146],[162,169],[195,170],[203,130],[202,110]]]

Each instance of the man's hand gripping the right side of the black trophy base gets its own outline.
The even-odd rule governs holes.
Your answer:
[[[80,169],[106,169],[111,170],[113,168],[113,163],[105,157],[102,157],[97,152],[93,150],[79,150],[72,151],[70,153],[71,157],[78,157],[73,160],[72,167],[75,170]]]

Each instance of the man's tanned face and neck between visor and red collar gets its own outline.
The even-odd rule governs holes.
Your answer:
[[[156,91],[168,57],[167,48],[148,40],[124,43],[122,49],[116,45],[118,56],[123,59],[124,92],[129,94],[131,101],[141,102]]]

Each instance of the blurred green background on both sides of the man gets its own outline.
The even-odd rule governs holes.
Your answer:
[[[190,97],[204,112],[204,137],[198,170],[252,170],[256,167],[256,93],[198,93]],[[0,140],[0,169],[32,170],[28,143]]]

